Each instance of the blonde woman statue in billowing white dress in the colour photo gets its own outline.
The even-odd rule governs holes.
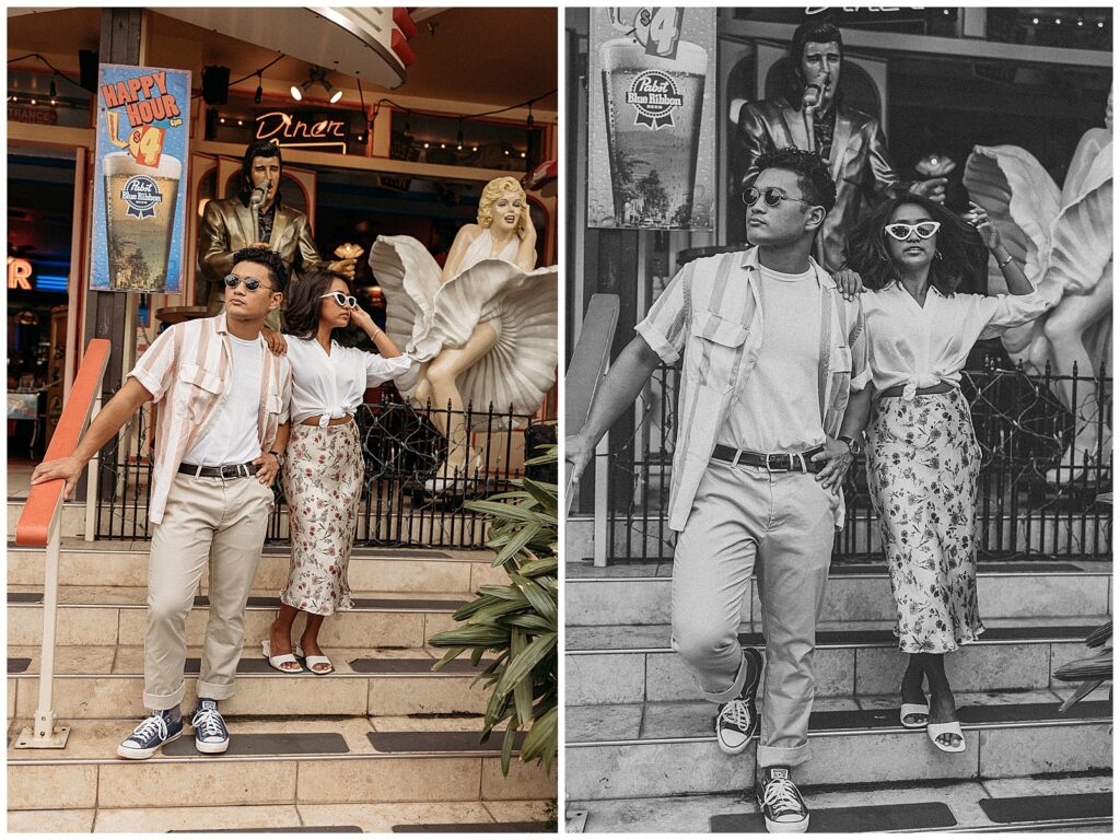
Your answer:
[[[556,381],[556,267],[536,269],[536,231],[515,178],[483,189],[478,223],[464,225],[442,270],[411,236],[379,236],[370,265],[388,301],[385,328],[420,364],[396,379],[448,440],[426,484],[440,493],[472,463],[467,407],[485,416],[532,414]],[[540,282],[548,280],[547,283]]]

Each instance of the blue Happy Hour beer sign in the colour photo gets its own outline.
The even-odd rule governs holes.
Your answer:
[[[188,71],[101,65],[91,289],[178,293],[189,108]]]

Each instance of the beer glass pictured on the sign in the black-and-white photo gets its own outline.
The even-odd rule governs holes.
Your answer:
[[[616,38],[599,56],[615,223],[691,226],[707,50],[682,40],[661,58]]]

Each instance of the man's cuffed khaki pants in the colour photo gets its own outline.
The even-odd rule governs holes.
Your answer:
[[[272,502],[272,489],[253,477],[175,476],[164,521],[152,532],[148,561],[146,708],[170,709],[183,701],[187,616],[212,557],[198,696],[233,697],[245,601],[256,576]]]

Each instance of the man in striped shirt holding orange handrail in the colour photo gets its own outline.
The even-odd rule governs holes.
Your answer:
[[[270,353],[261,336],[265,316],[283,299],[288,272],[280,258],[256,248],[237,251],[225,280],[225,311],[162,333],[74,455],[40,464],[31,476],[31,484],[65,478],[69,494],[101,447],[144,402],[156,403],[143,690],[152,715],[118,747],[123,758],[149,758],[183,732],[186,622],[212,553],[209,618],[190,724],[199,753],[230,746],[217,704],[234,692],[245,603],[288,441],[291,365]]]

